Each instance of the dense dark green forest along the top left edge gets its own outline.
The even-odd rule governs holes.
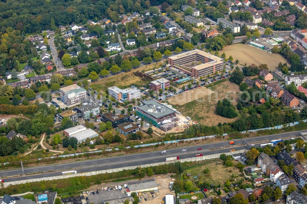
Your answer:
[[[41,32],[50,29],[53,17],[56,26],[73,22],[85,24],[87,20],[102,20],[105,17],[119,21],[119,15],[128,12],[141,12],[150,6],[163,3],[162,0],[57,0],[57,1],[4,1],[0,7],[0,29],[12,27],[25,33]],[[167,1],[178,8],[187,0]]]

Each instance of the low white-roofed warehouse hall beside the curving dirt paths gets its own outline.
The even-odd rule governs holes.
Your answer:
[[[77,125],[76,127],[71,127],[64,130],[64,134],[69,138],[77,138],[78,144],[85,142],[86,138],[96,138],[98,133],[96,133],[91,128],[84,127],[83,125]]]

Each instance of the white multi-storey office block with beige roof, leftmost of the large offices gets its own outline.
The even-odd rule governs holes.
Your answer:
[[[60,88],[62,102],[69,105],[82,102],[85,96],[86,90],[76,84]]]

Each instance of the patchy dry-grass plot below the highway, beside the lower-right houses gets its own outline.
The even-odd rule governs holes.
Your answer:
[[[210,172],[208,174],[204,174],[204,169],[208,168]],[[235,178],[238,180],[238,176],[241,175],[241,172],[236,167],[224,167],[221,162],[216,162],[200,167],[191,168],[188,170],[185,170],[183,175],[186,173],[191,173],[191,176],[196,176],[197,174],[200,174],[200,177],[198,178],[198,181],[206,182],[213,184],[217,186],[218,184],[221,184],[222,186],[225,184],[227,179],[231,178],[231,175],[234,174]],[[188,177],[187,179],[193,180],[192,177]],[[241,177],[239,177],[241,179]],[[192,181],[193,183],[193,181]],[[196,184],[193,185],[193,187],[196,187]]]

